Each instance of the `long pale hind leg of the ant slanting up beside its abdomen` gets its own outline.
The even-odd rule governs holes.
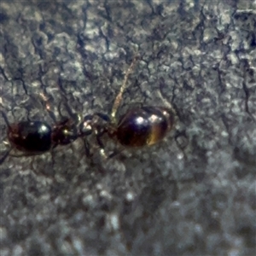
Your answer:
[[[119,94],[115,97],[115,100],[113,102],[113,108],[112,108],[112,112],[111,112],[111,117],[112,119],[114,120],[115,119],[115,115],[117,113],[117,110],[119,108],[119,105],[120,105],[120,102],[122,100],[122,96],[123,96],[123,93],[124,93],[124,90],[125,90],[125,87],[126,87],[126,84],[127,84],[127,80],[128,80],[128,77],[129,75],[132,73],[134,67],[135,67],[135,64],[138,60],[139,56],[138,55],[135,55],[133,57],[133,60],[131,62],[131,65],[130,67],[128,68],[128,70],[126,71],[125,73],[125,79],[124,79],[124,82],[123,84],[121,85],[120,87],[120,90],[119,90]]]

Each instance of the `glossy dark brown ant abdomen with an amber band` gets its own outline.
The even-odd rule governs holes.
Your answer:
[[[143,147],[158,143],[173,125],[174,113],[170,108],[133,108],[119,119],[114,133],[125,147]]]

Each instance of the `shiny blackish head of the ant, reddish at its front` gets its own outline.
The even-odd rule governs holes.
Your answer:
[[[9,125],[7,137],[11,145],[26,153],[43,154],[51,148],[51,127],[41,121],[21,121]]]

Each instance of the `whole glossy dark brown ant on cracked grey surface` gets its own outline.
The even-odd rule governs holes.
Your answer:
[[[94,113],[85,115],[83,119],[80,116],[77,120],[64,119],[50,126],[43,121],[21,121],[9,124],[7,117],[2,112],[3,119],[8,126],[7,138],[10,148],[0,159],[0,164],[9,155],[20,157],[44,154],[58,145],[73,143],[79,137],[85,138],[92,133],[96,134],[97,143],[101,148],[104,148],[101,137],[106,133],[111,138],[115,137],[122,146],[131,148],[149,146],[166,137],[175,123],[175,112],[172,108],[131,108],[119,120],[116,119],[128,77],[137,59],[138,56],[134,57],[131,66],[125,73],[119,94],[113,102],[111,117],[102,113]],[[104,120],[105,123],[102,124],[99,119]],[[85,141],[87,154],[89,154],[88,147],[89,145]],[[23,154],[10,154],[13,148]]]

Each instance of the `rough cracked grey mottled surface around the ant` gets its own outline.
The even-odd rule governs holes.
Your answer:
[[[136,53],[119,113],[172,103],[178,117],[111,160],[93,137],[90,158],[82,140],[7,158],[1,256],[255,253],[255,1],[2,1],[0,22],[9,122],[53,125],[42,95],[56,119],[110,113]]]

